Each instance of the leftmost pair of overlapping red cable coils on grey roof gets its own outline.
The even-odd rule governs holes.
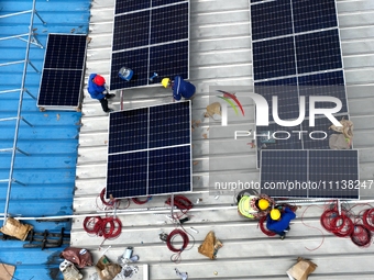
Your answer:
[[[84,228],[89,234],[113,239],[121,234],[122,223],[118,217],[87,216],[84,221]]]

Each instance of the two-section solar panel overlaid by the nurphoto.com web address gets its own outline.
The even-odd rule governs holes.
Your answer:
[[[358,150],[263,150],[261,192],[277,198],[359,199]]]

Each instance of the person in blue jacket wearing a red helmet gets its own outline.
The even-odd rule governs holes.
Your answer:
[[[110,94],[106,87],[106,79],[97,74],[91,74],[88,78],[88,93],[92,99],[98,99],[101,103],[101,108],[106,113],[112,112],[113,109],[108,107],[108,99],[116,97]]]

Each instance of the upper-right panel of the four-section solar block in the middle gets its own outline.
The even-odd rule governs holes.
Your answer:
[[[189,144],[188,102],[150,108],[150,148]],[[178,115],[178,117],[176,117]]]

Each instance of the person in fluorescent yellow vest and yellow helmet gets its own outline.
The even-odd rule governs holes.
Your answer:
[[[274,200],[266,194],[243,195],[238,203],[238,210],[243,216],[260,219],[262,216],[266,216],[273,205]]]

